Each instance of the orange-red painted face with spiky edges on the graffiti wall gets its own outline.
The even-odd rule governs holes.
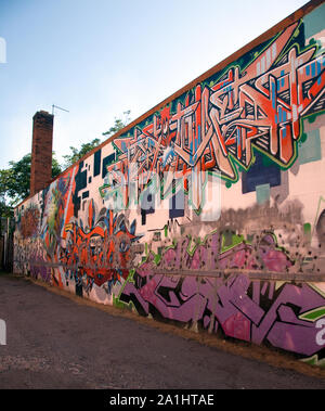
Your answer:
[[[131,245],[139,237],[135,222],[127,228],[123,215],[103,208],[96,216],[93,201],[89,203],[88,224],[67,224],[61,262],[76,278],[86,278],[88,291],[93,284],[108,285],[126,280],[132,264]]]

